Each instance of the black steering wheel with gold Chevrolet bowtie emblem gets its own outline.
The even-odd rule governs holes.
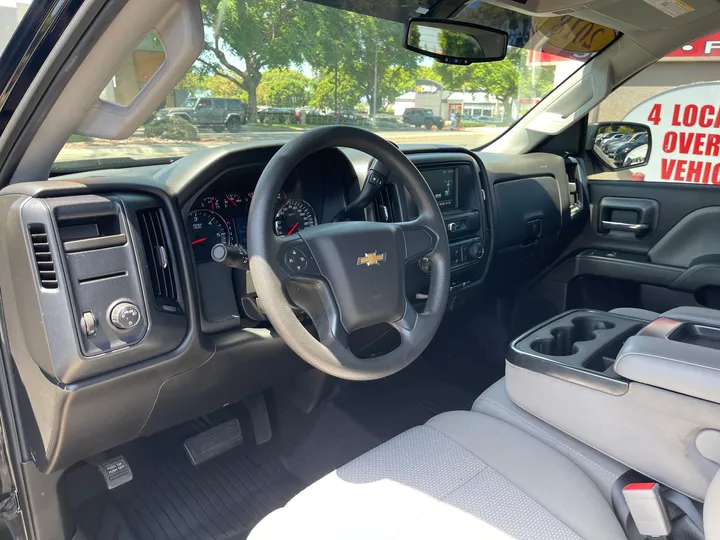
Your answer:
[[[402,223],[353,221],[303,229],[287,237],[273,231],[278,193],[295,167],[318,150],[360,150],[387,165],[407,188],[419,216]],[[320,171],[321,173],[323,171]],[[450,250],[435,197],[412,162],[385,139],[349,126],[316,128],[295,137],[265,167],[248,216],[250,271],[275,331],[302,359],[335,377],[371,380],[400,371],[422,353],[440,325],[450,285]],[[430,290],[422,313],[405,293],[405,265],[429,257]],[[293,311],[308,314],[314,337]],[[358,358],[351,332],[389,323],[400,345]]]

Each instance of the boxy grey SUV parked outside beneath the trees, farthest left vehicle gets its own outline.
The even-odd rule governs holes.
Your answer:
[[[230,133],[238,133],[247,123],[245,103],[232,98],[189,98],[182,107],[161,109],[166,116],[180,116],[197,127],[209,127],[216,133],[225,128]]]

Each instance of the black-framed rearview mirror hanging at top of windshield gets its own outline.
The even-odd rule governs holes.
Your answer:
[[[497,62],[507,43],[502,30],[444,19],[410,19],[405,33],[406,49],[446,64]]]

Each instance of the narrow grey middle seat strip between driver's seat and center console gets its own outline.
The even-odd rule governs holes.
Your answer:
[[[473,411],[493,416],[541,440],[575,463],[610,501],[612,488],[629,468],[594,448],[543,422],[515,405],[505,388],[503,377],[475,400]]]

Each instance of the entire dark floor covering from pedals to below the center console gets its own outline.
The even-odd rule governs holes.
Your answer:
[[[477,394],[443,380],[438,364],[420,359],[387,379],[341,383],[310,415],[286,399],[271,400],[273,438],[262,446],[253,440],[247,411],[225,408],[210,420],[238,417],[246,440],[197,467],[182,446],[203,428],[197,422],[125,445],[118,453],[134,479],[88,498],[76,510],[81,530],[92,540],[246,538],[264,516],[330,471],[436,414],[468,410]]]

